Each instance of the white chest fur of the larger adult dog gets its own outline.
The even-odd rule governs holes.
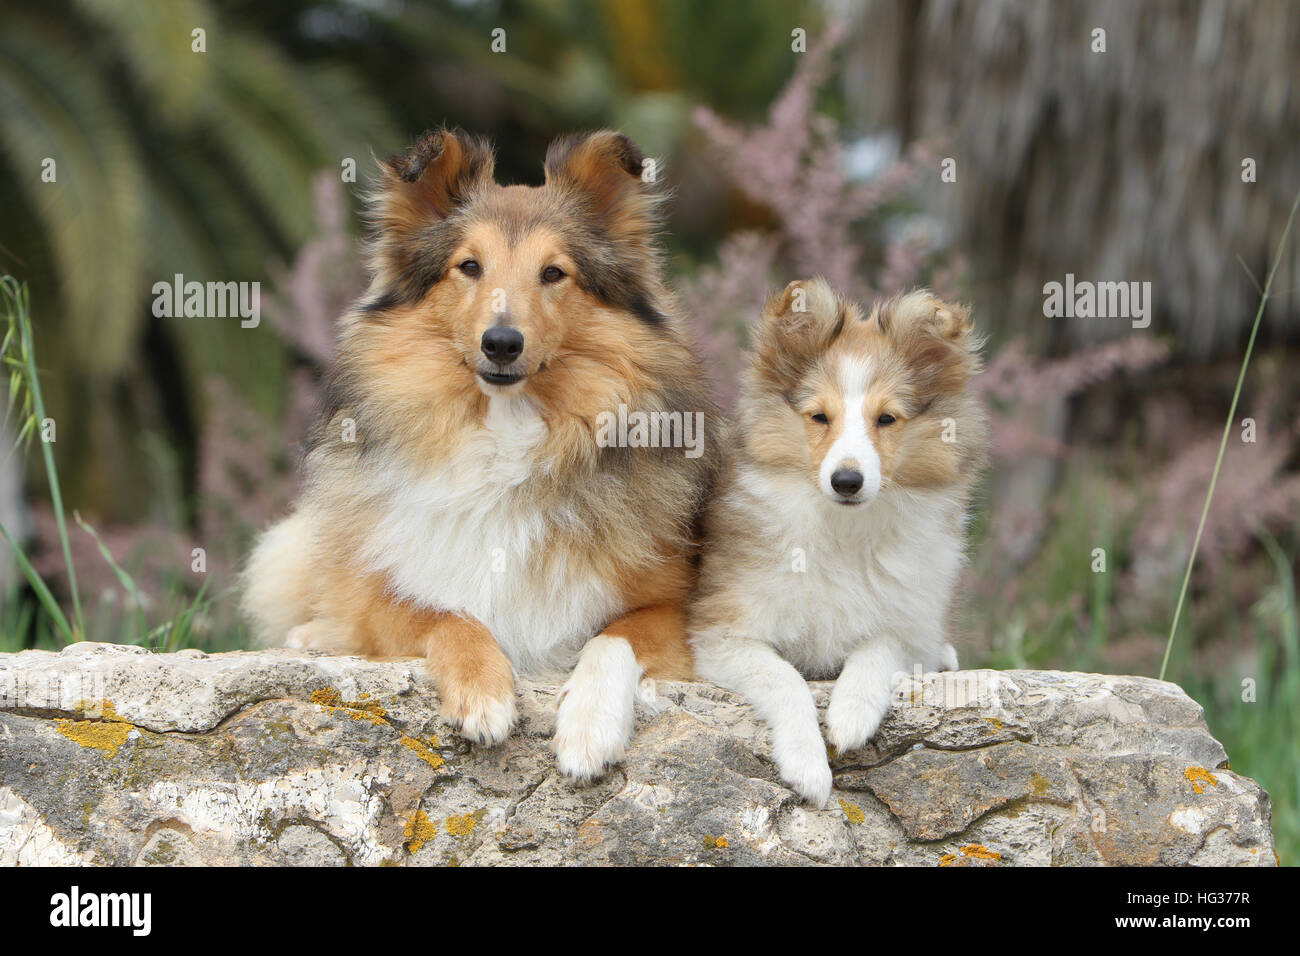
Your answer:
[[[498,395],[484,427],[436,470],[393,466],[370,477],[385,502],[367,538],[368,566],[426,607],[485,624],[517,670],[572,666],[577,650],[619,610],[604,581],[576,574],[555,529],[581,516],[545,510],[529,479],[546,463],[546,424],[523,395]]]

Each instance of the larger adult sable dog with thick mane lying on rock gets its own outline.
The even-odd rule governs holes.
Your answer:
[[[426,134],[381,164],[372,282],[342,320],[294,512],[257,542],[263,640],[424,656],[480,743],[514,674],[573,669],[562,773],[599,774],[642,674],[688,678],[684,605],[714,455],[598,441],[602,414],[712,425],[660,276],[653,185],[616,133],[560,139],[540,187]],[[575,667],[576,662],[576,667]]]

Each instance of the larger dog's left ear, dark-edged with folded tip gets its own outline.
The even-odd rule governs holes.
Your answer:
[[[390,228],[420,228],[447,219],[493,181],[491,146],[463,130],[433,130],[380,164],[377,219]]]

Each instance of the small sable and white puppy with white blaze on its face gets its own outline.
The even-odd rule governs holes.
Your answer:
[[[763,311],[706,515],[689,630],[696,672],[746,696],[781,777],[826,805],[805,679],[838,675],[827,731],[864,745],[896,672],[957,667],[946,637],[985,424],[970,312],[926,291],[870,315],[824,280]]]

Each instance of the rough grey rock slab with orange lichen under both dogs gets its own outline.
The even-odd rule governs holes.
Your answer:
[[[872,744],[835,757],[823,810],[705,683],[660,683],[625,763],[575,787],[556,689],[523,682],[516,732],[481,749],[419,661],[0,654],[0,866],[1275,862],[1268,795],[1157,680],[918,674]]]

